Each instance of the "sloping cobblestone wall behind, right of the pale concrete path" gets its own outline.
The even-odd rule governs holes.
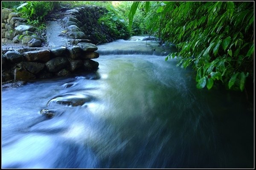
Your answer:
[[[89,39],[94,44],[112,42],[114,39],[105,25],[98,19],[108,10],[98,6],[83,6],[64,11],[62,22],[72,39]]]

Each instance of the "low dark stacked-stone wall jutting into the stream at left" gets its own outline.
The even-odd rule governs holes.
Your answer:
[[[90,40],[54,48],[2,50],[2,82],[67,76],[78,71],[94,71],[99,63],[96,45]]]

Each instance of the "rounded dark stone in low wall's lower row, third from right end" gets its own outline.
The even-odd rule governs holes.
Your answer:
[[[66,57],[56,57],[46,62],[45,65],[49,72],[57,72],[67,67],[68,60]]]

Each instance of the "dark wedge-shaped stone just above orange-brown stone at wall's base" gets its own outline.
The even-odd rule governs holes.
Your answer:
[[[33,74],[37,74],[44,69],[45,64],[40,62],[20,62],[17,64],[17,66]]]

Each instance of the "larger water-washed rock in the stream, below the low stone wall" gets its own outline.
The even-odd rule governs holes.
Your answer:
[[[92,99],[92,96],[86,94],[64,94],[51,99],[49,102],[47,102],[47,106],[53,104],[82,106],[84,103],[92,101]]]

